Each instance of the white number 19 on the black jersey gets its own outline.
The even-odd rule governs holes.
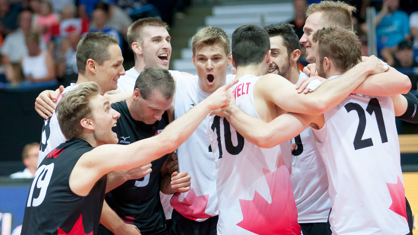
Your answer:
[[[31,185],[31,191],[29,191],[28,204],[26,204],[26,207],[37,207],[43,202],[43,199],[45,199],[46,196],[46,189],[48,189],[49,181],[51,181],[52,171],[54,171],[54,163],[39,166],[38,170],[36,170],[35,177],[33,178]],[[35,189],[35,186],[40,189],[40,191],[39,196],[37,198],[33,198],[32,202],[33,190]]]

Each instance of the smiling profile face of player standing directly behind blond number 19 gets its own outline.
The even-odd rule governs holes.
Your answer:
[[[120,47],[117,44],[109,46],[110,59],[105,60],[102,65],[96,64],[95,82],[99,84],[102,94],[117,89],[117,79],[125,75],[123,69],[123,57]]]

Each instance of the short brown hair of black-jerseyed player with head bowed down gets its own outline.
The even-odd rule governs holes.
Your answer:
[[[148,100],[155,90],[161,92],[166,99],[170,99],[176,90],[176,82],[168,70],[148,67],[144,68],[136,79],[134,89],[137,88],[144,100]]]

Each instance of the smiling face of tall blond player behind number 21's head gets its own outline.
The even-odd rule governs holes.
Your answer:
[[[315,12],[306,18],[305,26],[303,26],[303,36],[301,37],[301,40],[299,40],[306,48],[306,61],[309,63],[315,63],[315,53],[310,50],[313,44],[312,37],[316,31],[324,28],[321,24],[321,16],[321,12]]]

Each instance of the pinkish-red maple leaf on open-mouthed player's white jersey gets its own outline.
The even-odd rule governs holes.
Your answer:
[[[183,201],[179,202],[178,197],[180,197],[180,193],[174,194],[170,199],[170,204],[178,213],[189,220],[196,221],[197,219],[212,217],[212,215],[205,213],[206,205],[209,200],[209,194],[196,196],[194,189],[190,189]]]

